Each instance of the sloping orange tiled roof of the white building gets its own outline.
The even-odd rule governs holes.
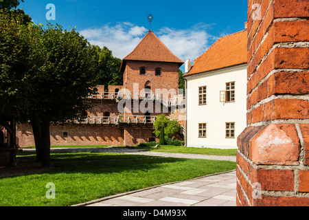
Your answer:
[[[247,30],[222,36],[209,49],[196,58],[184,76],[247,63]]]

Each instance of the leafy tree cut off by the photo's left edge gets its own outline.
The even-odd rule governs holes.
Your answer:
[[[10,1],[1,1],[0,123],[10,133],[10,146],[15,147],[16,118],[24,116],[21,107],[27,104],[27,79],[36,67],[31,61],[31,39],[27,34],[29,17],[18,10],[12,13],[11,6]]]

